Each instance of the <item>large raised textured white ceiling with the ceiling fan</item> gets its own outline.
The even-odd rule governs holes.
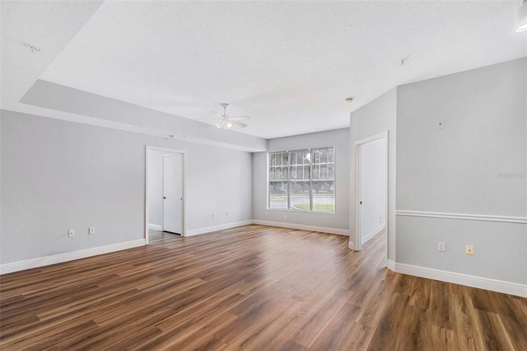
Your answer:
[[[107,1],[40,78],[191,119],[229,102],[264,138],[342,128],[396,85],[525,56],[519,5]]]

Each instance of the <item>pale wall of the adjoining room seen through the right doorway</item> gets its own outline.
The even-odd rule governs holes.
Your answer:
[[[386,139],[362,145],[362,243],[386,223]]]

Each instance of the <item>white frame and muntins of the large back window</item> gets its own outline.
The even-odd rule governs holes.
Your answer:
[[[329,180],[329,179],[325,179],[325,180],[320,180],[320,181],[333,181],[334,184],[335,184],[335,197],[334,197],[334,203],[335,203],[335,206],[334,206],[334,211],[333,212],[322,212],[322,211],[314,211],[313,210],[313,165],[314,165],[314,161],[315,161],[315,153],[314,153],[314,150],[316,149],[333,149],[333,180]],[[290,197],[290,187],[289,187],[289,183],[291,181],[296,181],[295,179],[290,179],[291,178],[291,153],[292,152],[297,152],[297,151],[308,151],[310,153],[310,162],[309,162],[309,180],[307,180],[307,182],[309,182],[309,210],[294,210],[294,209],[291,209],[290,205],[291,205],[291,197]],[[269,187],[270,187],[270,184],[271,184],[271,179],[270,179],[270,168],[272,167],[272,165],[270,164],[270,155],[271,154],[275,154],[275,153],[287,153],[287,160],[288,160],[288,164],[287,164],[287,179],[282,179],[281,181],[285,181],[287,182],[287,205],[286,205],[286,208],[271,208],[271,193],[269,191]],[[317,148],[306,148],[306,149],[297,149],[297,150],[287,150],[287,151],[274,151],[274,152],[267,152],[267,186],[266,186],[266,189],[267,189],[267,210],[271,210],[271,211],[292,211],[292,212],[302,212],[302,213],[321,213],[321,214],[336,214],[337,212],[337,167],[336,167],[336,164],[337,164],[337,152],[336,152],[336,148],[335,148],[335,145],[331,145],[331,146],[327,146],[327,147],[317,147]],[[318,163],[320,164],[320,162]],[[331,164],[328,160],[327,164]],[[304,172],[304,170],[302,170],[302,173]],[[320,171],[319,171],[320,172]],[[319,176],[320,176],[320,173],[319,173]],[[329,167],[328,167],[328,176],[329,176]],[[315,181],[318,181],[319,179],[315,179]],[[275,181],[279,181],[279,180],[275,180]]]

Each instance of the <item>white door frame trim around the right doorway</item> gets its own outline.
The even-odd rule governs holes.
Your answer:
[[[385,181],[386,181],[386,203],[385,203],[385,206],[386,206],[386,210],[385,210],[385,221],[386,221],[386,233],[385,233],[385,267],[388,267],[388,232],[389,232],[389,213],[388,213],[388,203],[389,203],[389,198],[388,198],[388,194],[389,194],[389,190],[388,190],[388,187],[389,187],[389,180],[388,180],[388,176],[389,176],[389,169],[388,169],[388,165],[389,165],[389,161],[388,161],[388,158],[389,158],[389,154],[388,154],[388,131],[384,131],[384,132],[381,132],[381,133],[378,133],[378,134],[375,134],[375,135],[372,135],[368,138],[364,138],[364,139],[361,139],[361,140],[358,140],[354,143],[354,155],[355,155],[355,164],[354,164],[354,168],[355,168],[355,179],[354,179],[354,203],[355,203],[355,213],[354,213],[354,218],[355,218],[355,233],[354,233],[354,245],[353,245],[353,250],[355,251],[360,251],[362,250],[362,237],[359,236],[359,231],[358,231],[358,228],[359,228],[359,222],[358,222],[358,213],[359,213],[359,185],[360,185],[360,173],[362,172],[362,167],[361,167],[361,163],[362,162],[359,162],[359,149],[360,149],[360,145],[363,145],[363,144],[366,144],[366,143],[369,143],[369,142],[372,142],[372,141],[376,141],[376,140],[380,140],[380,139],[386,139],[386,177],[385,177]]]

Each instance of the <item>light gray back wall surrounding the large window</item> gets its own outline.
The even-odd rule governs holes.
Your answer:
[[[268,140],[269,152],[335,145],[335,214],[267,209],[267,153],[253,153],[252,212],[256,220],[307,226],[349,228],[349,129]],[[285,218],[287,216],[287,218]]]

